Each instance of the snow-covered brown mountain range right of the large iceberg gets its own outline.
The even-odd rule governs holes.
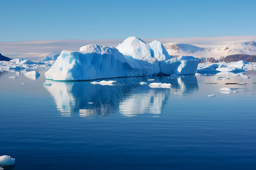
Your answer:
[[[170,56],[194,56],[208,62],[240,60],[256,62],[256,41],[238,42],[217,47],[199,47],[171,42],[163,45]]]

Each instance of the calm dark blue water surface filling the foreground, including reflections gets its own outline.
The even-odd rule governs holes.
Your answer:
[[[0,155],[16,158],[5,169],[256,169],[255,72],[117,86],[39,73],[0,74]],[[139,85],[152,78],[172,87]]]

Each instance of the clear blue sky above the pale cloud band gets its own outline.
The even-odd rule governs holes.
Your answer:
[[[256,35],[256,1],[0,0],[0,41]]]

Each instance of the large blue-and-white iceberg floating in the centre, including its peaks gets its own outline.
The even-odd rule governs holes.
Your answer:
[[[53,80],[93,80],[127,76],[195,74],[199,59],[171,57],[159,41],[150,44],[129,37],[117,48],[85,45],[79,52],[64,50],[45,76]]]

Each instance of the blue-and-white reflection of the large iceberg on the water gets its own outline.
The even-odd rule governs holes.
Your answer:
[[[115,86],[91,84],[91,81],[58,82],[46,80],[44,88],[55,100],[61,116],[84,118],[134,117],[147,113],[158,117],[172,94],[187,94],[198,89],[196,76],[177,78],[154,76],[154,82],[171,83],[171,88],[150,88],[148,77],[116,78]],[[141,85],[140,82],[148,84]]]

